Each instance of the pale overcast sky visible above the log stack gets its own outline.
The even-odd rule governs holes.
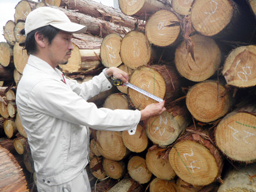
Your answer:
[[[4,38],[4,29],[3,27],[8,22],[8,20],[14,21],[14,13],[15,13],[15,6],[21,0],[0,0],[0,42],[6,41]],[[37,0],[30,0],[38,2]],[[96,2],[101,2],[103,5],[108,5],[113,7],[113,0],[94,0]]]

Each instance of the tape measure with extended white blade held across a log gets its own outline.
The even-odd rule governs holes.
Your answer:
[[[151,99],[154,99],[156,100],[157,102],[163,102],[163,100],[160,98],[160,97],[157,97],[151,93],[148,93],[146,90],[143,90],[141,88],[138,88],[137,86],[133,85],[132,83],[124,83],[122,80],[120,79],[116,79],[115,76],[112,76],[111,77],[111,84],[112,85],[115,85],[115,86],[120,86],[120,85],[126,85],[127,87],[133,89],[133,90],[136,90],[137,92],[143,94],[143,95],[146,95],[148,97],[150,97]]]

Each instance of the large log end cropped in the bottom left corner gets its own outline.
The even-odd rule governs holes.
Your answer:
[[[5,148],[0,147],[0,190],[28,192],[27,181],[22,168],[15,157]],[[11,181],[11,184],[10,184]]]

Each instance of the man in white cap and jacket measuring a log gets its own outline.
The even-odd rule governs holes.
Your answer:
[[[91,191],[87,173],[88,127],[136,131],[137,124],[165,111],[164,102],[144,110],[98,109],[87,100],[112,87],[108,78],[129,78],[118,68],[103,70],[82,84],[56,67],[65,65],[73,50],[72,33],[86,27],[71,23],[61,11],[37,8],[25,23],[25,48],[30,55],[19,82],[16,103],[34,160],[38,191]]]

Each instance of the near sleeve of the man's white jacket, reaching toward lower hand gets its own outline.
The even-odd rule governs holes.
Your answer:
[[[96,130],[136,130],[141,116],[139,110],[98,109],[94,103],[88,103],[73,92],[70,86],[52,79],[37,83],[30,92],[27,104],[40,113]]]

